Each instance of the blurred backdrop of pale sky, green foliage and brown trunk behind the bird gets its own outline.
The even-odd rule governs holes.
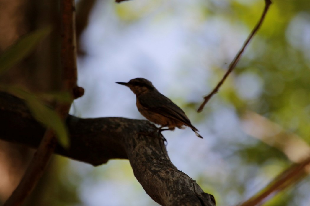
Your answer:
[[[165,131],[175,166],[236,205],[310,151],[310,4],[273,0],[237,68],[201,113],[197,108],[226,72],[263,11],[263,0],[78,0],[78,85],[70,113],[83,118],[144,119],[135,95],[115,82],[147,78],[181,107],[190,129]],[[59,83],[59,8],[54,1],[2,0],[0,52],[47,24],[50,38],[2,82],[33,91]],[[91,138],[91,137],[90,137]],[[0,143],[0,202],[19,182],[31,149]],[[264,205],[310,205],[309,178]],[[91,165],[55,155],[28,205],[156,206],[128,160]]]

